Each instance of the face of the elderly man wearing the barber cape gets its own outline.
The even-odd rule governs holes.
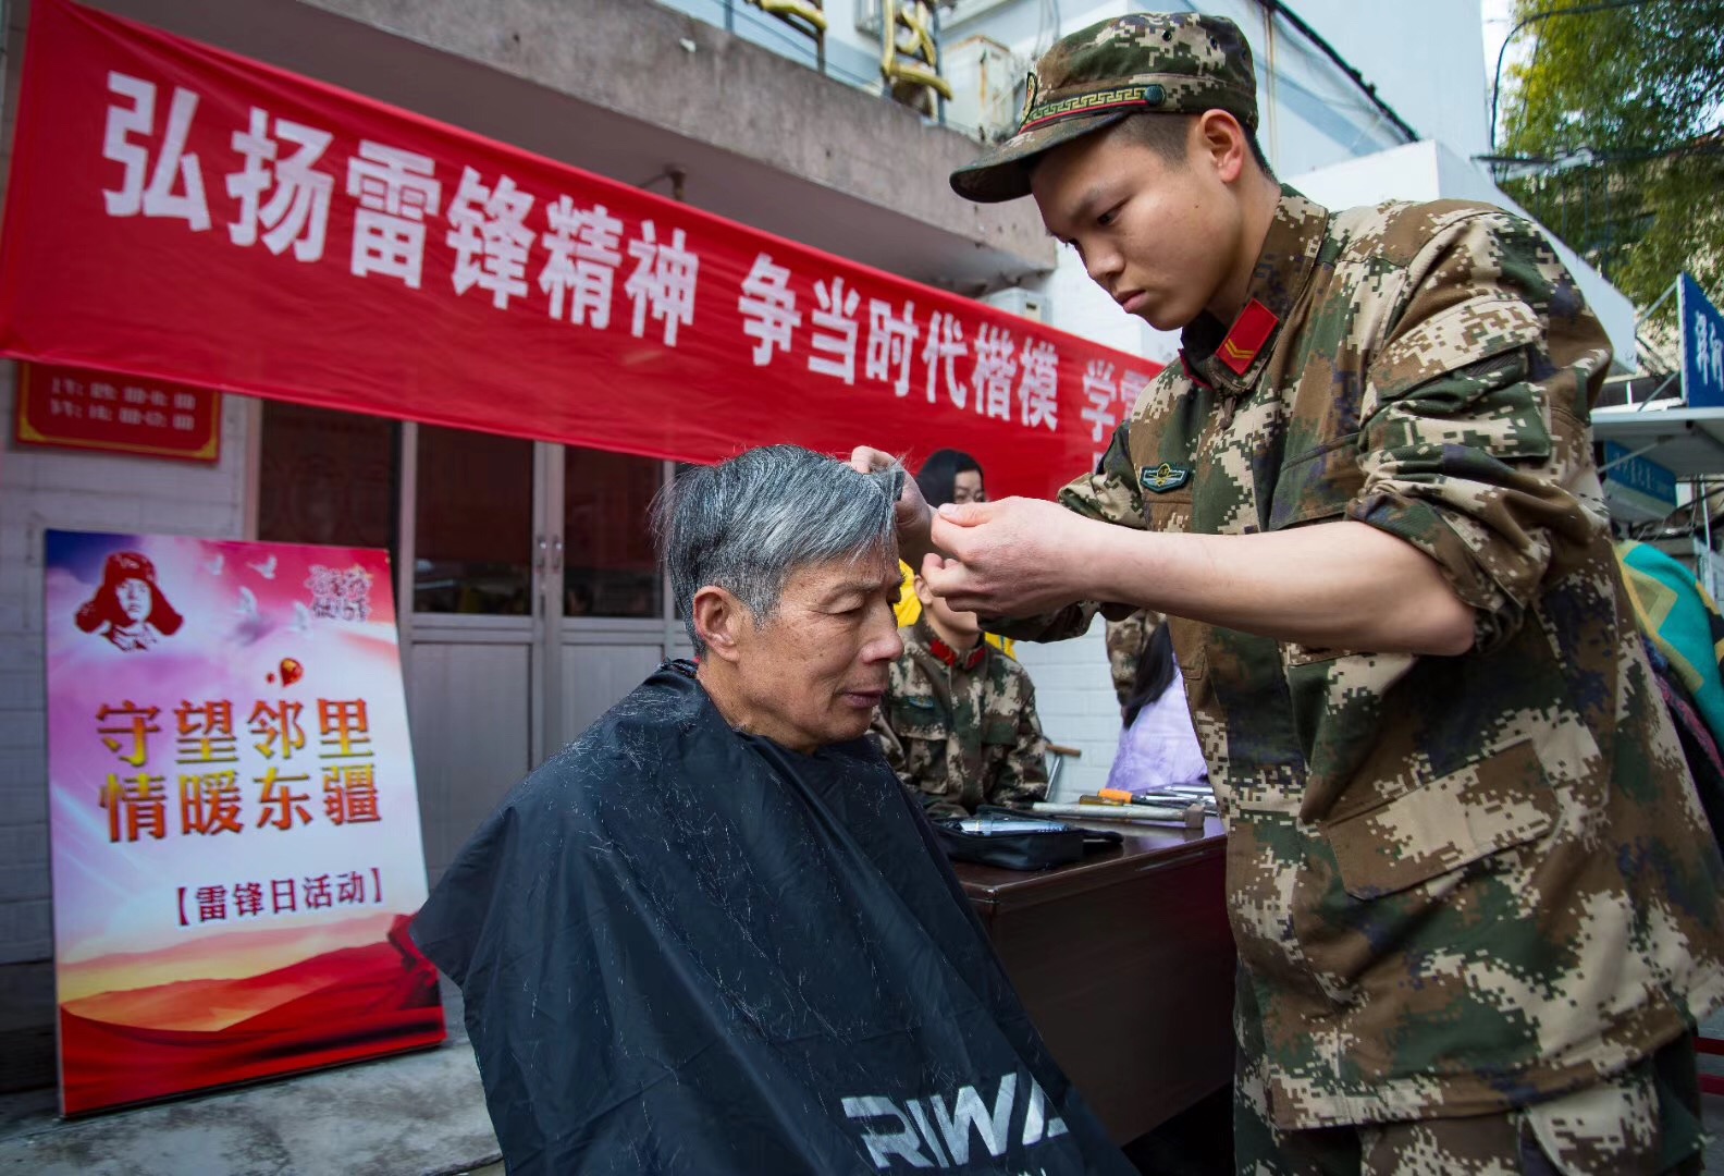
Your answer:
[[[898,562],[838,560],[791,574],[778,609],[736,635],[746,726],[796,752],[860,738],[903,652]]]

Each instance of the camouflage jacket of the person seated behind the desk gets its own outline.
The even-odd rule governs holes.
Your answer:
[[[957,664],[948,664],[936,650],[952,650],[928,621],[898,629],[898,636],[903,654],[891,664],[874,735],[898,779],[926,793],[929,816],[1045,798],[1048,745],[1024,667],[991,645],[957,654]]]

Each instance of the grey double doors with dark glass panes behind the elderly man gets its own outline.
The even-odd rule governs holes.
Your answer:
[[[259,538],[390,548],[434,881],[528,771],[688,654],[648,519],[671,466],[259,410]]]

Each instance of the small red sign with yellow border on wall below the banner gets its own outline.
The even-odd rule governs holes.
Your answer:
[[[14,421],[19,445],[183,462],[221,457],[221,393],[209,388],[22,364]]]

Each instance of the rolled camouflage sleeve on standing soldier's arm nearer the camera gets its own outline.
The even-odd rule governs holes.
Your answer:
[[[1369,369],[1346,516],[1429,555],[1476,610],[1521,624],[1553,560],[1605,526],[1588,395],[1610,345],[1538,233],[1479,214],[1433,241]]]

